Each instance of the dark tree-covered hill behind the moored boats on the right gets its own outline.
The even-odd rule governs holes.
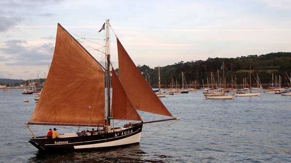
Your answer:
[[[193,58],[194,59],[194,58]],[[161,83],[164,87],[165,83],[169,87],[171,77],[173,77],[179,84],[182,81],[182,71],[185,74],[186,81],[196,80],[198,84],[202,85],[202,79],[206,82],[206,78],[210,78],[210,72],[214,72],[214,77],[217,80],[217,69],[219,69],[220,78],[222,78],[222,62],[225,62],[226,82],[230,84],[231,74],[233,79],[237,79],[237,83],[241,84],[244,77],[248,78],[248,72],[251,64],[252,73],[256,76],[259,74],[260,81],[268,86],[272,82],[272,73],[275,76],[281,75],[282,85],[287,86],[287,76],[291,72],[291,53],[279,52],[270,53],[265,55],[248,55],[236,58],[208,58],[206,61],[180,61],[174,65],[161,67]],[[150,77],[152,87],[158,86],[158,67],[149,68],[148,66],[138,66],[139,70],[143,73],[144,77]],[[146,77],[147,76],[147,77]],[[274,79],[275,80],[275,79]]]

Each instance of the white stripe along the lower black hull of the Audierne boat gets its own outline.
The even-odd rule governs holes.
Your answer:
[[[88,144],[88,145],[81,145],[81,146],[74,146],[75,149],[86,149],[86,148],[100,148],[100,147],[113,147],[113,146],[120,146],[132,143],[139,143],[141,139],[142,133],[135,134],[133,136],[129,136],[123,139],[105,142],[105,143],[96,143],[96,144]]]

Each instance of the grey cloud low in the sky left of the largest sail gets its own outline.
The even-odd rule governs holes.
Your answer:
[[[49,65],[53,44],[30,45],[22,40],[5,41],[4,46],[0,47],[0,62],[9,66]]]

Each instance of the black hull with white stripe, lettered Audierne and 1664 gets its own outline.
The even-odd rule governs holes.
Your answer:
[[[125,147],[138,144],[142,124],[112,133],[93,136],[71,136],[63,138],[32,138],[29,142],[40,151],[91,151]]]

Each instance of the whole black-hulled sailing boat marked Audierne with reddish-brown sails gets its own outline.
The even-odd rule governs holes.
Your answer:
[[[33,136],[29,142],[37,149],[98,150],[139,143],[143,124],[179,119],[174,118],[155,95],[117,37],[119,77],[112,67],[111,80],[109,27],[107,19],[107,59],[106,68],[103,68],[58,24],[55,51],[46,86],[30,121],[25,123]],[[171,118],[143,122],[137,110]],[[139,122],[129,122],[122,127],[116,127],[113,119]],[[35,136],[30,125],[86,126],[103,129],[99,130],[99,134],[92,133],[91,136],[78,136],[77,132],[62,134],[58,138],[47,138]]]

